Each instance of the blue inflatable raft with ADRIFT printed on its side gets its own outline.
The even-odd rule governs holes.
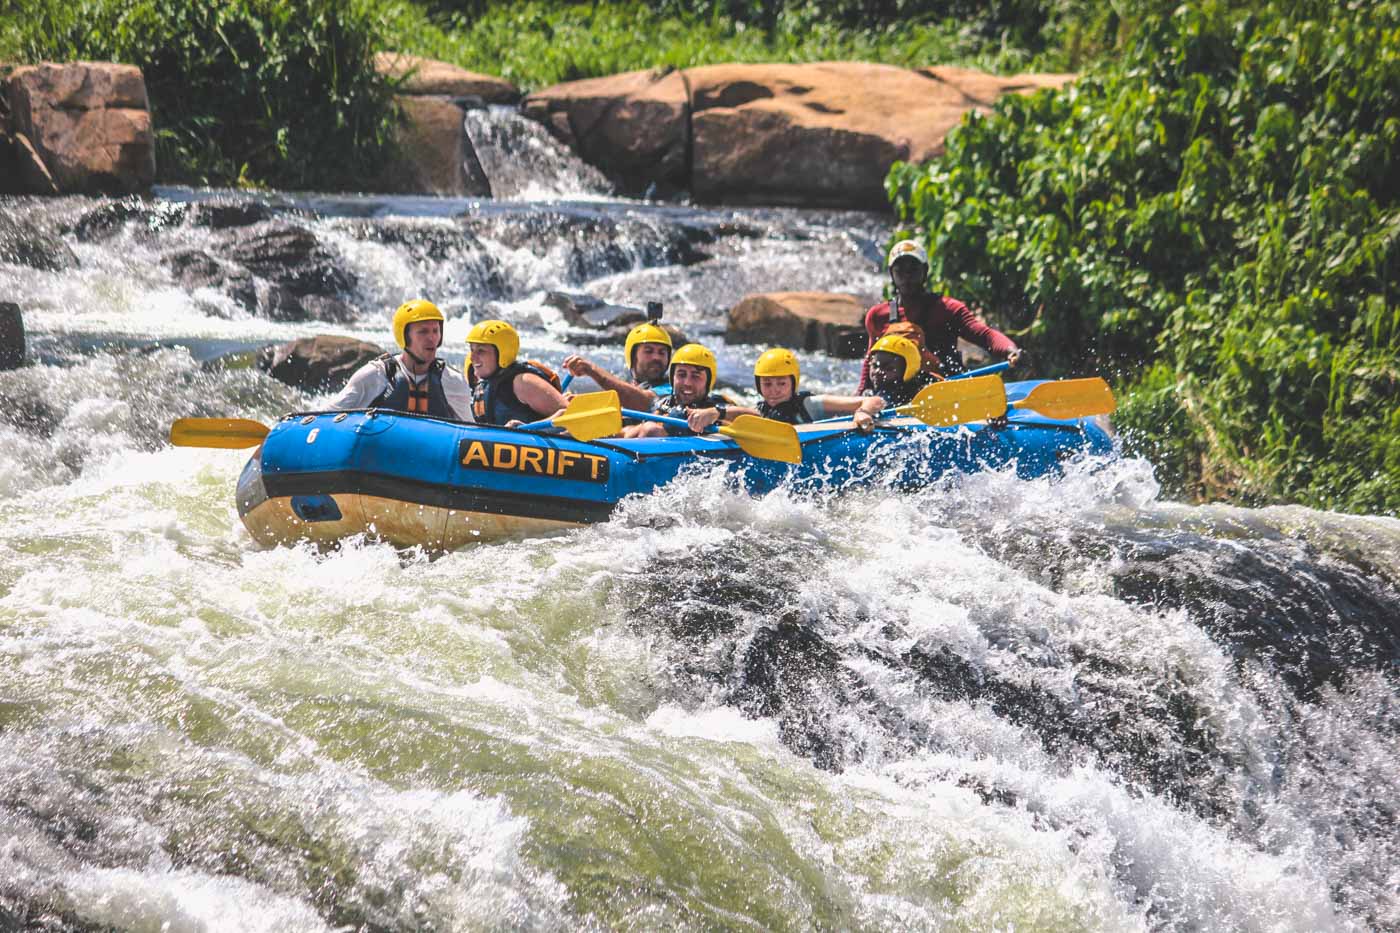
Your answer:
[[[1008,382],[1016,401],[1039,382]],[[402,412],[288,415],[238,481],[238,511],[265,545],[332,544],[367,534],[451,551],[501,537],[606,521],[624,496],[650,493],[693,465],[724,464],[748,490],[923,486],[953,471],[1014,464],[1023,478],[1071,457],[1114,452],[1106,419],[1053,420],[1011,410],[1004,426],[930,427],[889,419],[802,424],[802,462],[755,459],[721,436],[577,441]]]

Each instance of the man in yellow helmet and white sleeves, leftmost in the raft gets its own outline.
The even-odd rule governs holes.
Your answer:
[[[385,353],[356,370],[330,408],[388,408],[472,420],[472,388],[437,356],[444,322],[431,301],[414,298],[400,304],[393,312],[393,339],[402,353]]]

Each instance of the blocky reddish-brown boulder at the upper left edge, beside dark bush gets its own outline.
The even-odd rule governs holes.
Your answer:
[[[6,95],[31,189],[123,195],[146,192],[155,181],[155,137],[136,66],[24,66],[10,74]]]

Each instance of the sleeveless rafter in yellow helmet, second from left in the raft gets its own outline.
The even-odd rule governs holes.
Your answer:
[[[466,335],[466,346],[472,413],[479,423],[517,427],[568,405],[559,391],[559,377],[518,359],[521,338],[505,321],[479,322]]]

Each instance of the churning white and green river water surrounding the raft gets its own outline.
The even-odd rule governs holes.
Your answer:
[[[32,360],[0,373],[0,929],[1400,927],[1394,518],[1165,502],[1121,459],[256,548],[244,455],[169,422],[323,396],[216,357],[389,345],[426,296],[454,363],[472,317],[557,361],[571,290],[665,301],[742,385],[742,294],[881,287],[876,217],[559,193],[0,203],[77,261],[0,261]],[[230,248],[210,199],[311,230],[354,315],[181,286],[164,256]]]

